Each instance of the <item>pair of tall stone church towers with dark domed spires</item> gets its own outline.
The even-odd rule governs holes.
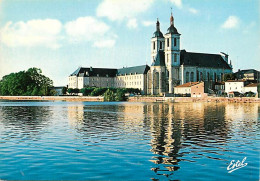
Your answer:
[[[151,40],[152,66],[149,75],[150,94],[173,93],[174,85],[180,82],[180,35],[174,27],[171,14],[170,27],[165,35],[160,31],[157,19],[156,31]]]

